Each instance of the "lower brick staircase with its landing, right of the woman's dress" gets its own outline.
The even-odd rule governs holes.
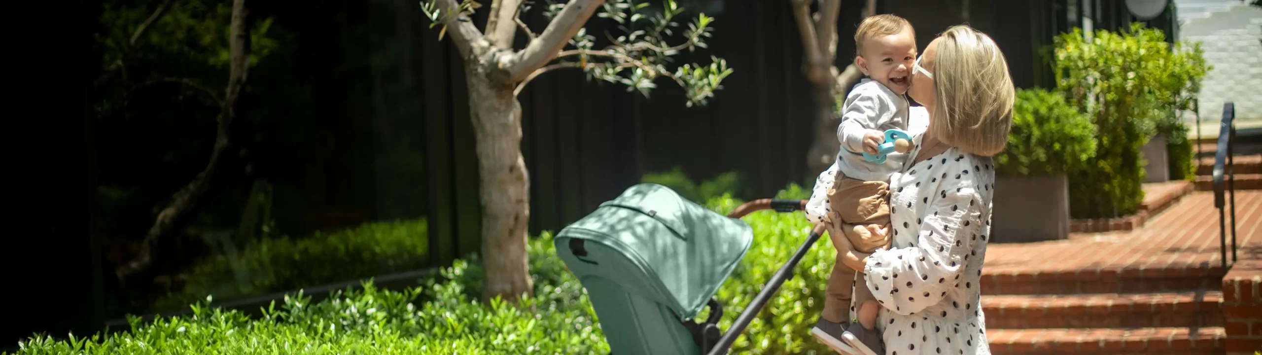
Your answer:
[[[1238,191],[1237,205],[1241,250],[1262,250],[1262,192]],[[1217,214],[1213,193],[1193,192],[1142,229],[991,244],[982,278],[991,351],[1225,354],[1235,323],[1224,321],[1233,299],[1223,296]]]

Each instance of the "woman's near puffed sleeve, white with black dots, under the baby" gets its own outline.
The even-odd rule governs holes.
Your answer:
[[[877,250],[863,272],[872,296],[899,315],[911,315],[941,302],[968,263],[982,225],[981,195],[965,168],[948,169],[920,225],[912,246]],[[919,201],[917,201],[919,202]],[[901,225],[892,229],[905,227]]]

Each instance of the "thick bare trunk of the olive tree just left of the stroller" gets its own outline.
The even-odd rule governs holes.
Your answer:
[[[514,86],[492,81],[490,68],[464,63],[473,134],[477,139],[482,202],[482,298],[516,303],[534,294],[526,255],[530,177],[521,155],[521,104]]]

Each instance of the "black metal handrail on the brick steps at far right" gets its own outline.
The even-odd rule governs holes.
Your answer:
[[[1235,264],[1235,104],[1223,104],[1223,123],[1214,152],[1214,208],[1218,208],[1218,244],[1223,269],[1227,269],[1227,208],[1232,214],[1232,264]],[[1225,177],[1225,182],[1224,182]],[[1227,196],[1224,196],[1227,195]],[[1227,198],[1230,198],[1228,203]],[[1230,206],[1228,206],[1230,205]]]

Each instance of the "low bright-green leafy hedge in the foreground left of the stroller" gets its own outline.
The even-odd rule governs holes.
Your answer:
[[[557,282],[541,284],[522,307],[498,298],[477,303],[464,286],[478,284],[469,282],[480,278],[471,275],[478,270],[458,260],[439,278],[404,291],[379,289],[369,280],[362,291],[333,292],[318,303],[298,292],[262,310],[259,318],[198,302],[191,306],[192,316],[149,323],[129,318],[130,331],[115,335],[68,340],[37,335],[16,354],[608,352],[591,303],[573,274],[563,273],[551,238],[533,240],[529,250],[531,272],[551,273]]]

